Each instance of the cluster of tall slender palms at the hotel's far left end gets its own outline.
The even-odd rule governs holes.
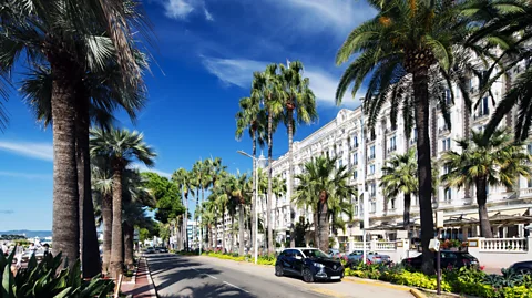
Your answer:
[[[310,124],[317,120],[316,96],[313,93],[308,78],[304,76],[304,66],[299,61],[284,64],[269,64],[263,72],[253,74],[252,90],[249,97],[239,100],[239,111],[236,113],[236,138],[241,140],[247,130],[253,143],[253,156],[257,156],[257,145],[268,147],[268,165],[273,162],[273,136],[279,123],[284,123],[288,133],[288,197],[291,197],[294,186],[294,156],[293,138],[297,124]],[[255,158],[256,161],[256,158]],[[254,163],[254,171],[256,168]],[[273,168],[268,169],[268,191],[266,195],[266,223],[267,223],[267,247],[268,253],[274,251],[274,237],[270,214],[272,204],[268,202],[273,197]],[[253,178],[255,179],[255,178]],[[255,184],[253,182],[253,189]],[[253,204],[255,208],[256,204]],[[255,210],[252,210],[255,214]],[[294,223],[294,206],[290,206],[291,223]],[[253,220],[255,222],[255,220]],[[295,226],[290,227],[291,243],[294,247]],[[257,235],[257,228],[253,228],[253,239]]]

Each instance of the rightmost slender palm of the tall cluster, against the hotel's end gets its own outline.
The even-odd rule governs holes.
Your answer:
[[[294,187],[294,129],[297,124],[310,124],[318,119],[316,96],[310,90],[310,80],[303,76],[304,68],[300,61],[293,61],[289,65],[280,64],[280,83],[285,95],[285,125],[288,129],[288,197],[291,197]],[[290,247],[295,247],[295,216],[290,203]]]

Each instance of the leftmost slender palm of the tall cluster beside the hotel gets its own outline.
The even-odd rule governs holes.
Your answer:
[[[264,147],[267,133],[267,115],[266,111],[260,106],[262,97],[257,92],[252,91],[252,96],[242,97],[238,102],[241,110],[236,113],[236,140],[242,140],[244,132],[248,131],[252,138],[253,151],[252,155],[257,157],[257,145]],[[253,162],[253,173],[257,169],[256,161]],[[255,192],[255,175],[253,175],[253,192]],[[255,197],[255,196],[254,196]],[[252,243],[255,244],[257,237],[257,227],[255,227],[255,208],[257,202],[252,203]],[[241,243],[242,243],[241,238]]]

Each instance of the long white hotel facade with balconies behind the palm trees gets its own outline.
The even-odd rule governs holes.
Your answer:
[[[521,65],[523,69],[524,65]],[[519,72],[515,69],[514,72]],[[478,89],[478,79],[473,79],[470,83],[471,90]],[[492,88],[495,101],[499,102],[507,89],[508,82],[501,79]],[[442,153],[449,150],[459,151],[454,140],[463,138],[468,131],[482,130],[489,122],[494,111],[491,99],[480,99],[478,109],[468,112],[463,97],[460,95],[458,88],[454,90],[454,103],[450,103],[450,94],[447,91],[450,104],[450,115],[452,127],[447,127],[441,111],[436,106],[430,107],[430,143],[431,157],[438,160]],[[473,97],[474,99],[474,97]],[[478,100],[478,99],[477,99]],[[367,193],[369,197],[369,225],[377,226],[380,224],[398,224],[402,223],[403,202],[402,194],[396,198],[390,198],[388,210],[385,212],[385,197],[379,187],[381,168],[386,161],[396,153],[405,153],[410,146],[416,146],[416,132],[411,133],[411,137],[407,140],[402,116],[398,115],[397,125],[392,126],[389,116],[389,106],[385,106],[380,113],[380,117],[376,124],[375,132],[370,132],[365,127],[366,140],[362,142],[361,133],[361,107],[352,110],[341,110],[335,120],[324,125],[321,129],[309,135],[308,137],[294,142],[294,171],[295,174],[301,173],[303,165],[310,161],[313,156],[329,155],[338,156],[339,164],[348,165],[354,172],[351,184],[362,189],[362,182],[366,179]],[[516,117],[515,111],[508,115],[501,125],[513,127]],[[362,144],[364,147],[362,147]],[[529,152],[532,146],[528,146]],[[366,160],[362,160],[366,156]],[[275,176],[282,176],[288,179],[288,154],[273,163],[273,173]],[[362,176],[362,167],[366,167],[366,177]],[[440,175],[444,173],[444,168],[440,168]],[[297,184],[297,179],[295,181]],[[288,192],[289,193],[289,192]],[[361,197],[361,196],[360,196]],[[361,201],[361,199],[360,199]],[[438,194],[433,196],[433,208],[443,210],[446,219],[463,217],[469,219],[478,219],[478,208],[475,203],[474,187],[446,188],[440,186]],[[263,201],[264,203],[264,201]],[[529,214],[532,207],[532,182],[523,177],[519,179],[513,189],[505,187],[490,187],[488,197],[489,215],[523,215]],[[274,220],[274,230],[276,239],[283,242],[286,235],[289,235],[290,227],[290,205],[289,198],[274,197],[272,204],[272,218]],[[358,198],[352,199],[352,208],[355,212],[354,220],[349,222],[346,232],[338,230],[338,240],[340,244],[349,243],[358,239],[362,233],[360,223],[362,222],[361,202]],[[265,207],[259,205],[259,212],[264,212]],[[419,224],[419,202],[412,196],[410,218]],[[296,210],[295,220],[299,216],[305,216],[310,223],[313,222],[311,213],[308,210]],[[499,237],[522,237],[524,234],[522,224],[500,226],[493,225],[495,235]],[[472,225],[464,228],[448,228],[447,235],[451,237],[472,237],[478,235],[478,227]],[[383,234],[381,234],[383,235]],[[380,237],[380,236],[379,236]]]

